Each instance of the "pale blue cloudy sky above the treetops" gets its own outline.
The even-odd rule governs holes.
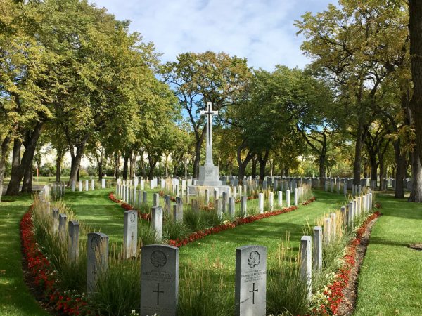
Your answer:
[[[303,38],[293,22],[306,11],[323,11],[328,0],[94,0],[131,31],[153,41],[162,61],[187,51],[225,51],[248,65],[274,70],[277,64],[304,67]]]

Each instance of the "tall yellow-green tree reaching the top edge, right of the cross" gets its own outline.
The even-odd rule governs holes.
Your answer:
[[[302,49],[314,58],[313,68],[331,79],[355,139],[354,184],[361,176],[362,147],[383,98],[379,88],[403,65],[407,23],[400,1],[339,1],[323,13],[306,13],[297,22],[306,41]],[[340,104],[340,103],[338,103]]]

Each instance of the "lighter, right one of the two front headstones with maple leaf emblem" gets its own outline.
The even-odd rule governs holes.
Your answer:
[[[236,249],[236,316],[265,316],[267,299],[267,247]]]

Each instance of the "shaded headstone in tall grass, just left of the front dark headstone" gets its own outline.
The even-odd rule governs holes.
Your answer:
[[[95,291],[101,273],[108,268],[108,236],[89,232],[87,242],[87,293]]]

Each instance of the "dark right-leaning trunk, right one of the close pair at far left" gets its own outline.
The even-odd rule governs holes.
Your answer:
[[[22,190],[23,193],[32,193],[32,176],[34,173],[34,154],[35,150],[37,149],[37,143],[39,136],[41,135],[41,128],[44,122],[38,122],[33,131],[27,135],[27,139],[25,140],[25,152],[23,153],[22,160],[20,162],[20,166],[23,169],[23,183],[22,183]]]

